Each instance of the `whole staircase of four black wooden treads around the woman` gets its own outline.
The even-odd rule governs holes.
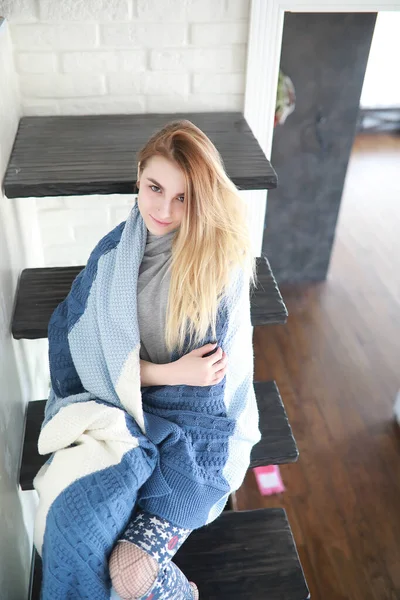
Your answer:
[[[240,113],[90,115],[23,117],[3,182],[4,193],[9,198],[131,193],[135,152],[172,118],[188,118],[210,137],[229,177],[240,189],[276,187],[276,174]],[[53,310],[83,268],[22,271],[12,321],[15,339],[47,337]],[[258,286],[251,296],[253,326],[285,323],[287,310],[265,256],[257,258],[257,274]],[[298,449],[275,382],[257,381],[254,389],[262,439],[253,448],[250,467],[295,462]],[[37,451],[45,403],[45,399],[35,400],[27,406],[19,478],[22,490],[33,489],[33,478],[47,459]],[[198,585],[200,598],[309,598],[285,510],[232,508],[231,497],[221,516],[195,530],[174,557]],[[28,600],[39,600],[40,584],[41,559],[34,549]]]

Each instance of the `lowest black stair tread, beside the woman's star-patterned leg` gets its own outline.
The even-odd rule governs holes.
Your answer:
[[[41,559],[29,600],[39,600]],[[193,531],[173,561],[204,600],[306,600],[310,598],[283,508],[223,512]],[[36,595],[35,595],[36,594]]]

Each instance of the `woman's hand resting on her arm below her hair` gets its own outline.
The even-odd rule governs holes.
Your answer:
[[[217,348],[211,356],[204,354],[215,349],[215,344],[206,344],[192,350],[173,363],[169,363],[175,385],[215,385],[225,377],[228,356]]]

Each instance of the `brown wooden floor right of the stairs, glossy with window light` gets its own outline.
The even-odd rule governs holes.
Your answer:
[[[300,457],[277,496],[249,470],[238,509],[286,509],[312,600],[399,600],[400,136],[357,137],[328,279],[281,291],[255,379],[276,380]]]

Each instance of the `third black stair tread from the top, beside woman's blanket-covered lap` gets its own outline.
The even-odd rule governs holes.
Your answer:
[[[254,382],[260,414],[262,439],[253,447],[250,467],[294,462],[296,442],[275,382]],[[23,490],[33,489],[33,479],[49,455],[38,453],[37,442],[44,419],[46,400],[29,402],[25,414],[19,482]]]

